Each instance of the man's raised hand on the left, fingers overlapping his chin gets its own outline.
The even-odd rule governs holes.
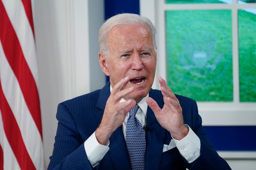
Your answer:
[[[133,87],[124,89],[129,82],[129,76],[122,78],[114,87],[106,103],[100,126],[95,136],[100,144],[105,145],[112,133],[122,125],[127,113],[136,105],[134,100],[120,102],[122,98],[133,92]]]

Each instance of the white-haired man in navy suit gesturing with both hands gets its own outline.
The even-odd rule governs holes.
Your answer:
[[[204,133],[195,100],[174,95],[161,77],[161,91],[151,89],[155,34],[135,14],[101,26],[99,62],[110,82],[59,104],[48,169],[230,169]]]

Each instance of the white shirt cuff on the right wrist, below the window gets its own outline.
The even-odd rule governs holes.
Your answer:
[[[201,142],[195,132],[187,124],[185,125],[189,129],[188,135],[181,140],[172,138],[180,154],[188,161],[188,163],[191,163],[200,156]]]

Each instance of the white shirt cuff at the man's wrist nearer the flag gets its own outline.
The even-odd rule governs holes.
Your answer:
[[[108,145],[109,140],[106,146],[99,144],[96,139],[95,132],[84,142],[84,149],[92,167],[98,165],[104,155],[108,152]]]

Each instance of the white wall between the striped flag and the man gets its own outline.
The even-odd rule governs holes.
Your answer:
[[[47,167],[57,129],[58,103],[105,84],[97,57],[104,1],[34,0],[32,6]]]

